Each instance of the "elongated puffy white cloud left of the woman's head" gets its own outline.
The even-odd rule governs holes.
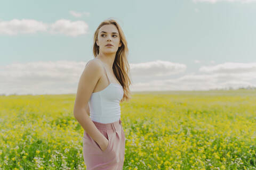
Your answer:
[[[70,21],[61,19],[52,24],[36,20],[13,19],[11,21],[0,21],[0,35],[18,35],[18,33],[36,33],[39,31],[52,34],[62,33],[66,36],[79,36],[86,34],[89,25],[84,21]]]

